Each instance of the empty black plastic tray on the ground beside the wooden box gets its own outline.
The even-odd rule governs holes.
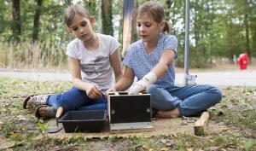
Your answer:
[[[106,110],[69,111],[58,120],[67,133],[100,132],[106,121]]]

